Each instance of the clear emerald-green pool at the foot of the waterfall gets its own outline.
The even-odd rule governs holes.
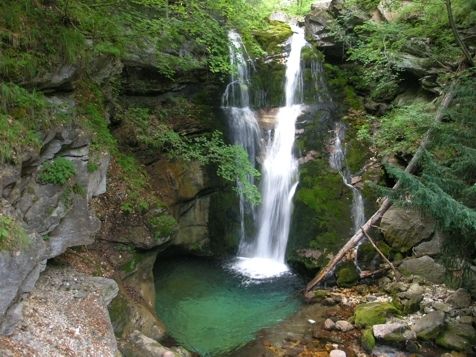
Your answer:
[[[197,258],[159,261],[156,310],[169,334],[202,356],[223,356],[282,321],[299,307],[301,282],[293,275],[250,283]]]

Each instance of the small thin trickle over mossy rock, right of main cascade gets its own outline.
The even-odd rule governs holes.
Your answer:
[[[342,146],[344,140],[345,127],[342,123],[336,124],[334,145],[329,157],[330,166],[339,171],[344,184],[352,191],[352,223],[354,233],[365,223],[364,200],[360,191],[352,185],[350,172],[345,165],[345,151]]]

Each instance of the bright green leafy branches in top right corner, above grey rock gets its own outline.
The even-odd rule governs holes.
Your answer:
[[[373,1],[346,2],[349,8],[358,6],[364,10],[374,5]],[[452,7],[458,24],[465,27],[476,24],[474,1],[456,0]],[[393,21],[371,19],[352,31],[335,31],[349,47],[349,59],[363,65],[359,75],[354,76],[355,85],[365,88],[377,100],[391,99],[397,93],[401,53],[416,54],[433,67],[446,68],[457,62],[461,54],[448,24],[444,1],[417,0],[402,4],[394,0],[392,11],[396,14]],[[345,14],[344,11],[340,19],[342,24]]]

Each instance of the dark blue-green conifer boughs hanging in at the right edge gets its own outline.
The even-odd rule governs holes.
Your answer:
[[[432,216],[451,237],[445,241],[445,261],[452,271],[460,272],[455,278],[463,284],[476,257],[475,83],[474,71],[462,76],[446,119],[433,130],[418,173],[388,167],[401,185],[395,192],[385,190],[398,204],[417,207]]]

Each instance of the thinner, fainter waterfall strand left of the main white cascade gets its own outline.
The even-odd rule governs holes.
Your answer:
[[[250,71],[248,56],[237,32],[230,31],[228,39],[230,43],[230,65],[233,71],[231,81],[223,94],[222,107],[229,118],[233,144],[243,147],[248,153],[251,163],[254,164],[261,134],[256,115],[249,107]],[[247,177],[247,179],[251,184],[254,184],[252,176]],[[245,250],[246,247],[245,217],[247,214],[254,217],[255,210],[240,193],[240,251]]]

